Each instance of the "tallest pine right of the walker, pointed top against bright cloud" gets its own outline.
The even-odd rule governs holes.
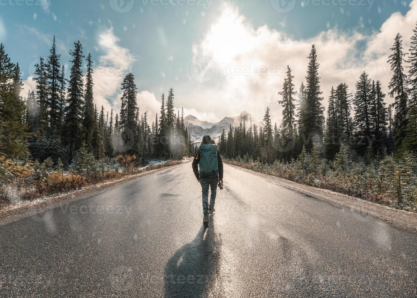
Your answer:
[[[306,101],[304,105],[304,114],[302,119],[301,134],[304,136],[306,143],[306,150],[309,152],[312,148],[314,138],[321,138],[323,135],[324,125],[324,107],[322,106],[321,97],[322,91],[320,90],[320,77],[319,66],[317,62],[316,46],[312,45],[309,55],[309,66],[306,76]]]

